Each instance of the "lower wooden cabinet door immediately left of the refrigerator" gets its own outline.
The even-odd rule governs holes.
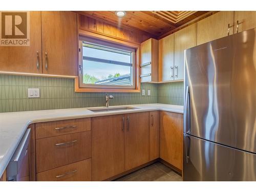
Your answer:
[[[160,158],[182,170],[182,114],[160,111]]]

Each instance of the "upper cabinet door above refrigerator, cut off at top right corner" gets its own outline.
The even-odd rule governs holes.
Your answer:
[[[234,33],[256,28],[256,11],[235,11],[234,26]]]

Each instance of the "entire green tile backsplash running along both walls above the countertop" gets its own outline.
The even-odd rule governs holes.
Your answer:
[[[40,98],[28,98],[28,88],[39,88]],[[183,104],[183,82],[141,83],[151,96],[141,93],[109,93],[110,105]],[[105,93],[75,93],[74,79],[0,74],[0,112],[104,106]]]

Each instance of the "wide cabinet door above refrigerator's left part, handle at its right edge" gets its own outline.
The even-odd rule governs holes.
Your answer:
[[[220,11],[197,23],[197,45],[233,34],[233,11]],[[228,30],[228,25],[229,30]],[[229,31],[229,32],[228,32]]]

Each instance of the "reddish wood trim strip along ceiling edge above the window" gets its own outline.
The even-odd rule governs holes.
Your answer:
[[[86,12],[94,12],[94,11],[86,11]],[[113,26],[117,26],[117,27],[119,27],[119,28],[127,29],[127,30],[133,30],[133,31],[135,31],[135,32],[137,31],[137,32],[139,32],[139,33],[142,33],[142,34],[151,36],[152,38],[156,38],[156,39],[158,38],[155,34],[152,34],[152,33],[146,32],[146,31],[143,31],[143,30],[138,29],[138,28],[126,26],[126,25],[118,25],[115,20],[112,20],[112,19],[110,19],[110,18],[108,18],[109,20],[106,20],[106,18],[101,18],[101,17],[99,17],[98,15],[97,15],[97,16],[94,16],[94,15],[88,14],[88,13],[86,13],[86,12],[83,12],[83,11],[76,11],[76,13],[78,13],[78,14],[81,14],[81,15],[84,15],[84,16],[88,16],[88,17],[90,17],[90,18],[99,20],[99,21],[104,22],[104,23],[106,23],[106,24],[110,24],[110,25],[113,25]]]

